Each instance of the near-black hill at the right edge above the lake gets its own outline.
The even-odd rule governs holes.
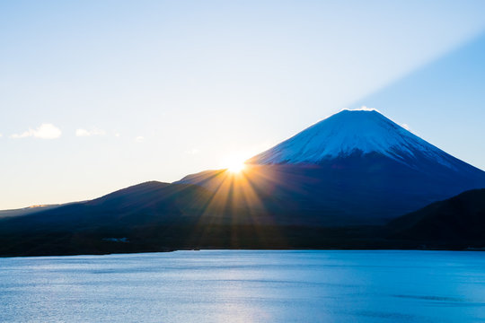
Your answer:
[[[463,192],[403,215],[387,224],[386,231],[393,239],[428,243],[480,241],[481,247],[485,247],[484,228],[485,188],[482,188]]]

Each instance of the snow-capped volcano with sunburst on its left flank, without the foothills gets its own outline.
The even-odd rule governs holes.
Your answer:
[[[382,224],[467,189],[485,172],[400,127],[375,110],[343,110],[260,153],[230,186],[239,205],[285,223]],[[181,179],[218,195],[227,174]]]

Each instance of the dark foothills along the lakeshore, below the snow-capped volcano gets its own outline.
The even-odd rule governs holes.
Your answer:
[[[128,196],[123,193],[141,193],[150,186],[160,190],[154,197],[157,203],[147,207],[125,204]],[[68,205],[56,214],[52,210],[4,219],[0,221],[0,255],[104,254],[172,249],[467,249],[485,245],[482,230],[485,189],[429,205],[389,225],[340,227],[285,223],[279,216],[270,221],[270,217],[264,218],[270,213],[263,215],[266,221],[260,221],[260,214],[255,213],[200,212],[199,205],[197,212],[190,212],[190,207],[178,205],[180,200],[172,198],[187,196],[191,201],[194,198],[191,195],[195,194],[201,198],[202,205],[211,205],[214,196],[207,196],[207,192],[200,189],[163,183],[141,184],[90,203]],[[152,190],[147,192],[148,195],[152,193]],[[103,213],[104,208],[100,205],[110,205],[111,198],[126,206],[119,208],[119,213]],[[184,201],[181,203],[185,204]],[[124,207],[127,209],[123,211]],[[222,204],[217,207],[224,210]],[[211,208],[215,206],[207,209]],[[240,221],[242,216],[251,221]],[[31,221],[23,220],[28,217]]]

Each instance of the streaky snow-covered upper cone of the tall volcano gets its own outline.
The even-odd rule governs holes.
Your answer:
[[[353,153],[381,153],[399,162],[416,153],[452,167],[452,156],[385,118],[375,109],[342,110],[252,157],[256,164],[319,163]]]

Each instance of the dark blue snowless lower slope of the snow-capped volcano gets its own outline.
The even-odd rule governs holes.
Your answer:
[[[256,196],[237,203],[275,214],[279,221],[349,225],[386,223],[472,186],[455,175],[447,170],[431,175],[377,153],[356,153],[318,165],[248,165],[231,186],[224,184],[228,175],[220,171],[190,175],[179,183],[196,184],[219,196],[228,189]]]

